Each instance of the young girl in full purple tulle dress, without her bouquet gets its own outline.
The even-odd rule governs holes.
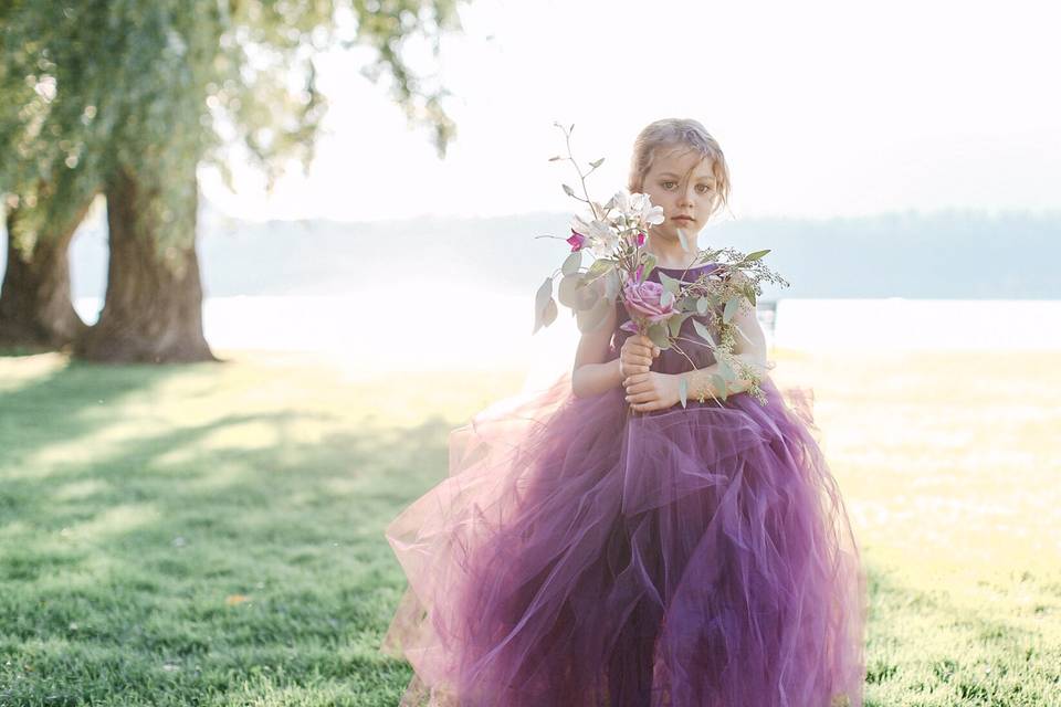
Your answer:
[[[664,210],[651,279],[713,266],[689,267],[729,179],[700,123],[645,127],[629,189]],[[710,349],[685,347],[693,368],[628,319],[617,303],[570,374],[451,433],[450,476],[388,526],[401,705],[861,706],[865,578],[809,399],[770,380],[753,312],[736,350],[765,405],[748,380],[713,400]]]

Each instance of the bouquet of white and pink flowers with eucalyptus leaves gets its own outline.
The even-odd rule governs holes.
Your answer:
[[[696,366],[682,345],[711,349],[718,368],[718,372],[712,376],[713,400],[725,400],[727,383],[743,378],[752,381],[748,392],[765,403],[758,370],[733,352],[737,335],[748,338],[733,319],[742,307],[752,307],[754,312],[756,296],[763,293],[760,282],[788,285],[763,263],[763,256],[769,250],[748,254],[729,247],[700,250],[690,267],[708,263],[713,267],[704,268],[694,281],[674,278],[662,271],[659,283],[648,279],[656,260],[647,247],[651,238],[649,226],[663,222],[663,209],[653,205],[648,194],[630,193],[626,189],[620,189],[605,203],[591,200],[586,178],[605,160],[590,162],[591,169],[584,172],[570,152],[570,133],[575,126],[565,128],[557,124],[557,127],[564,130],[568,148],[566,159],[578,172],[582,197],[568,184],[563,184],[564,191],[584,202],[589,213],[587,217],[575,214],[570,222],[571,234],[560,239],[570,245],[570,253],[559,270],[538,287],[534,331],[556,320],[558,307],[554,299],[554,284],[559,277],[556,296],[560,304],[571,309],[580,331],[598,328],[607,319],[609,308],[614,307],[617,300],[622,302],[630,315],[630,321],[623,324],[622,329],[647,336],[660,349],[673,349],[693,368]],[[557,156],[550,161],[559,159],[565,158]],[[681,230],[679,238],[683,247],[689,250]],[[592,256],[588,265],[584,264],[586,252]],[[680,336],[682,324],[694,316],[700,317],[693,319],[697,338]],[[701,319],[707,319],[711,326],[705,326]],[[712,329],[716,336],[712,336]],[[683,408],[687,402],[686,389],[683,378],[679,392]]]

